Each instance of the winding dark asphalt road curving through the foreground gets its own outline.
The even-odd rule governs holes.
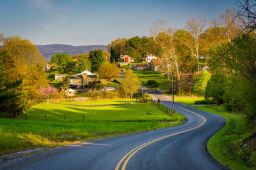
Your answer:
[[[148,93],[171,107],[169,97],[151,90]],[[175,103],[175,110],[188,119],[185,124],[54,148],[20,159],[9,168],[117,169],[120,162],[119,169],[227,169],[205,150],[207,140],[225,125],[225,120],[180,103]],[[141,148],[131,152],[138,146]]]

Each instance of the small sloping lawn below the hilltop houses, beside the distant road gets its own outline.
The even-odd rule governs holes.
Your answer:
[[[160,71],[134,71],[134,73],[138,76],[142,85],[148,87],[150,89],[169,89],[168,78],[167,76],[163,76]],[[148,80],[156,80],[158,83],[158,87],[152,87],[148,85]]]

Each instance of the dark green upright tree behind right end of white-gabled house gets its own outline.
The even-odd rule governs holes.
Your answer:
[[[92,63],[92,71],[98,71],[100,64],[104,61],[103,50],[91,50],[89,60]]]

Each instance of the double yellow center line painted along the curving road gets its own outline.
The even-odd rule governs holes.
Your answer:
[[[180,107],[179,107],[179,108],[180,108]],[[181,108],[181,109],[186,110],[186,109],[184,109],[184,108]],[[189,110],[186,110],[186,111],[189,111]],[[202,115],[199,115],[198,113],[195,113],[195,112],[193,112],[193,111],[189,111],[189,112],[191,112],[191,113],[193,113],[193,114],[195,114],[195,115],[198,115],[199,117],[203,118],[204,122],[202,122],[202,124],[200,124],[200,125],[198,125],[198,126],[196,126],[196,127],[193,127],[193,128],[191,128],[191,129],[187,129],[187,130],[185,130],[185,131],[180,131],[180,132],[177,132],[177,133],[174,133],[174,134],[169,134],[169,135],[167,135],[167,136],[163,136],[163,137],[161,137],[161,138],[157,138],[157,139],[154,139],[154,140],[152,140],[152,141],[148,141],[147,143],[144,143],[144,144],[142,144],[142,145],[140,145],[140,146],[134,148],[134,149],[131,150],[129,153],[127,153],[126,155],[124,155],[124,157],[123,157],[123,158],[118,162],[118,164],[116,165],[115,170],[118,170],[118,169],[120,168],[121,164],[122,164],[122,163],[124,162],[124,160],[127,158],[127,159],[125,160],[123,166],[122,166],[122,170],[124,170],[125,167],[127,166],[127,163],[128,163],[129,160],[131,159],[131,157],[132,157],[136,152],[138,152],[139,150],[141,150],[142,148],[144,148],[145,146],[150,145],[150,144],[152,144],[152,143],[155,143],[156,141],[160,141],[160,140],[162,140],[162,139],[169,138],[169,137],[171,137],[171,136],[175,136],[175,135],[177,135],[177,134],[181,134],[181,133],[184,133],[184,132],[192,131],[192,130],[197,129],[198,127],[201,127],[202,125],[205,124],[205,122],[206,122],[206,118],[205,118],[205,117],[203,117]]]

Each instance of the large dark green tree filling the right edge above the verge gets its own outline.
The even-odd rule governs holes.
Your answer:
[[[251,33],[243,36],[239,36],[234,39],[232,43],[220,46],[218,52],[220,56],[216,59],[215,67],[223,69],[227,74],[232,77],[233,92],[229,101],[232,101],[233,106],[237,107],[239,103],[243,105],[244,112],[248,115],[248,118],[252,120],[256,118],[256,34]],[[239,85],[236,85],[239,83]],[[240,85],[241,84],[241,85]],[[234,93],[236,92],[236,93]],[[237,99],[236,96],[241,96],[244,102]]]

